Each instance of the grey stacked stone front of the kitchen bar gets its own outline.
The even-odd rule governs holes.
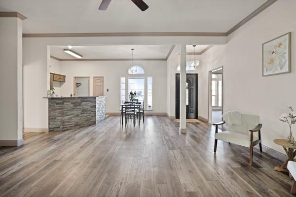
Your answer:
[[[106,97],[48,98],[48,130],[81,128],[106,118]]]

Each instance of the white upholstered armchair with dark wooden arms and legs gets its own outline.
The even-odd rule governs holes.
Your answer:
[[[225,124],[225,121],[215,123],[215,147],[214,152],[217,150],[218,140],[238,144],[250,148],[249,164],[252,165],[253,161],[253,147],[259,144],[260,152],[262,152],[261,133],[260,129],[262,124],[259,124],[259,116],[241,114],[241,124],[231,125],[226,131],[218,132],[218,126]],[[227,123],[226,123],[227,125]]]

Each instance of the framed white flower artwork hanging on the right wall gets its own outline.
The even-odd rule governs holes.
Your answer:
[[[291,32],[262,44],[262,76],[291,72]]]

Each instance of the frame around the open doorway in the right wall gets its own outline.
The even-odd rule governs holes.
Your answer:
[[[223,66],[219,66],[215,69],[209,70],[208,75],[208,122],[212,124],[212,73],[215,70],[222,68],[222,114],[223,114],[223,108],[224,108],[224,85],[223,85]]]

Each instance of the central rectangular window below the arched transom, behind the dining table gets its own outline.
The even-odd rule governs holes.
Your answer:
[[[128,92],[136,92],[135,99],[139,99],[139,102],[144,101],[144,78],[128,78]]]

